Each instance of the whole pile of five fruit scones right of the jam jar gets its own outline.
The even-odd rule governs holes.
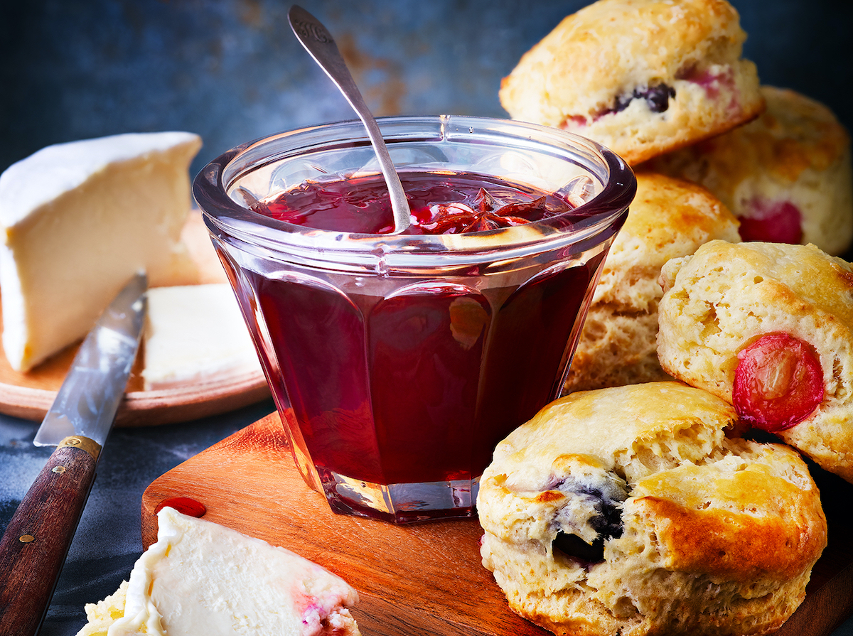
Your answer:
[[[483,564],[557,634],[774,632],[827,546],[802,455],[853,482],[850,138],[745,39],[725,0],[599,0],[502,82],[638,182],[564,396],[480,483]]]

